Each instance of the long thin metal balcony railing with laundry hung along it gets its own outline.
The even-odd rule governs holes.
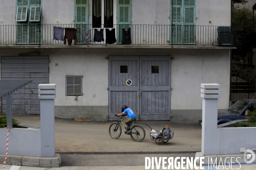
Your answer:
[[[77,28],[78,45],[105,44],[104,42],[81,42],[81,28],[91,31],[90,24],[34,24],[34,25],[0,25],[0,45],[56,45],[64,41],[53,40],[54,26]],[[113,25],[116,29],[116,43],[122,42],[122,27],[131,29],[133,45],[218,45],[218,26],[182,26],[182,25]],[[100,29],[100,28],[96,28]],[[105,39],[104,28],[104,39]],[[106,40],[106,39],[105,39]],[[106,44],[108,45],[108,44]]]

